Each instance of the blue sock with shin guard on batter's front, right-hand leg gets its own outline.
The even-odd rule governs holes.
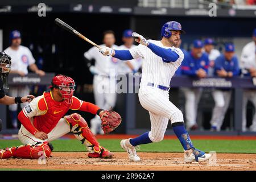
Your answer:
[[[188,135],[188,132],[184,127],[184,122],[173,123],[172,129],[174,130],[174,133],[177,136],[177,138],[180,140],[180,143],[183,146],[184,150],[194,148],[191,139]]]

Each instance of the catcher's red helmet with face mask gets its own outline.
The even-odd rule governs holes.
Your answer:
[[[52,78],[51,88],[60,89],[61,96],[68,104],[71,103],[71,97],[75,91],[75,81],[65,75],[57,75]]]

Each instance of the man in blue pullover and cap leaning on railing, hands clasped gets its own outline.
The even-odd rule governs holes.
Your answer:
[[[225,52],[217,57],[214,64],[214,76],[226,78],[238,76],[240,68],[238,65],[237,56],[234,55],[234,44],[225,45]],[[224,121],[226,110],[229,107],[230,98],[232,95],[231,89],[214,89],[213,99],[215,106],[210,120],[211,131],[220,131]]]

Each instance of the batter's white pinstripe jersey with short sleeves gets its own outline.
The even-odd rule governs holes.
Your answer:
[[[134,59],[138,57],[143,57],[142,62],[142,80],[141,86],[147,85],[148,82],[154,83],[156,85],[170,86],[171,78],[174,76],[175,71],[179,68],[181,62],[184,59],[184,54],[180,48],[166,47],[160,42],[160,40],[148,40],[149,42],[155,44],[156,46],[163,47],[166,49],[171,49],[175,51],[179,58],[175,62],[165,63],[162,57],[155,55],[147,46],[139,44],[129,51]]]

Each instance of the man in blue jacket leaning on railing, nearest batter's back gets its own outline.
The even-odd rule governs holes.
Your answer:
[[[193,48],[184,55],[181,64],[183,75],[205,78],[209,67],[208,54],[203,52],[203,42],[194,40]],[[187,130],[196,130],[197,105],[199,104],[201,92],[200,88],[183,88],[185,94],[185,117],[187,119]]]

